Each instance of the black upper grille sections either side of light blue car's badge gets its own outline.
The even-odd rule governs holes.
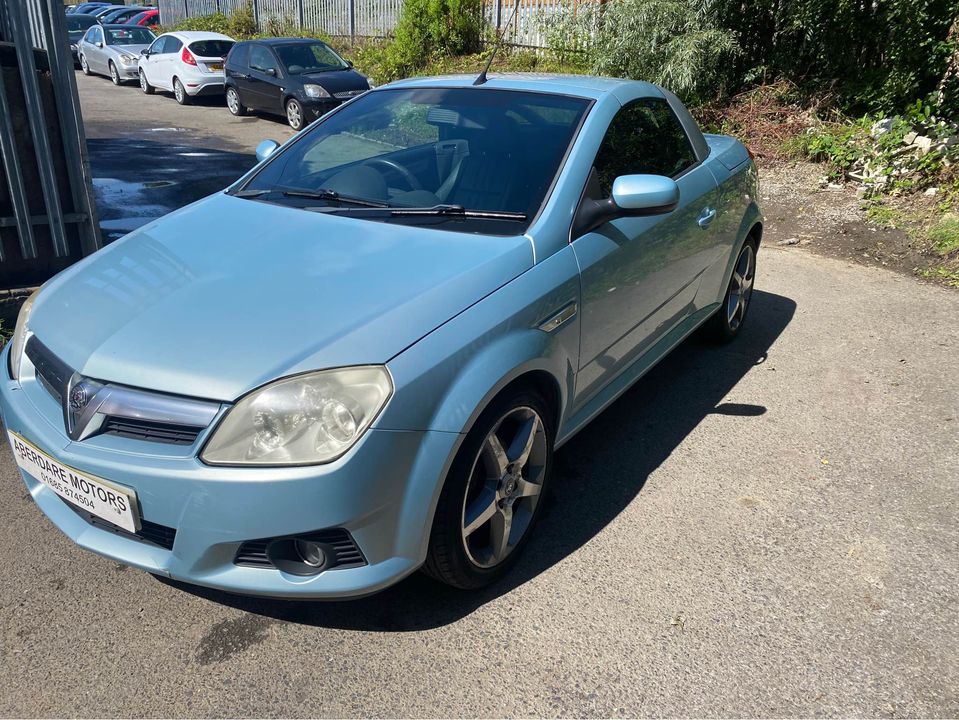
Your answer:
[[[58,358],[53,351],[44,345],[35,335],[27,341],[26,356],[33,364],[37,380],[48,393],[63,407],[65,395],[70,379],[74,375],[73,369]],[[172,396],[164,396],[149,391],[128,390],[128,395],[144,400],[163,398],[169,403],[182,403],[189,407],[204,405],[196,400],[178,400]],[[211,419],[218,408],[216,403],[206,403],[209,412],[200,417]],[[161,419],[139,417],[140,408],[126,408],[125,414],[105,414],[96,432],[90,435],[116,435],[135,440],[166,443],[170,445],[192,445],[197,437],[207,427],[206,425],[190,425],[185,423],[168,422]]]

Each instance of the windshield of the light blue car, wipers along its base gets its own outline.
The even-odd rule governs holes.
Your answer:
[[[589,104],[482,87],[373,91],[314,124],[238,194],[372,220],[522,232]]]

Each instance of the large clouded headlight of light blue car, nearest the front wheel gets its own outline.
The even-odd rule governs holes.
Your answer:
[[[381,365],[294,375],[255,390],[213,431],[209,465],[314,465],[360,439],[393,394]]]

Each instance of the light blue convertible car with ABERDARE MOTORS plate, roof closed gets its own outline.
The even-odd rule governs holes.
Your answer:
[[[749,309],[755,167],[654,85],[404,81],[258,155],[49,281],[3,358],[37,504],[157,575],[485,585],[555,449]]]

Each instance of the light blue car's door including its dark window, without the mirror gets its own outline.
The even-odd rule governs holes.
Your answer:
[[[666,100],[627,102],[596,155],[584,196],[610,197],[622,175],[672,177],[673,211],[621,217],[573,239],[580,264],[582,338],[576,396],[586,402],[696,309],[715,262],[716,182]]]

